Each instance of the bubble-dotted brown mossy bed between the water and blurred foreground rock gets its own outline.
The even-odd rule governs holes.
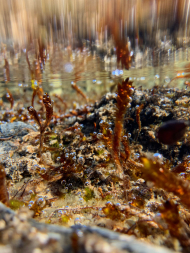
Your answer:
[[[32,106],[21,110],[14,99],[8,99],[11,110],[4,110],[3,102],[7,129],[22,119],[25,125],[1,138],[2,150],[8,150],[1,157],[1,201],[14,210],[28,207],[38,221],[107,227],[188,252],[189,109],[180,101],[189,91],[155,87],[152,93],[126,79],[116,94],[69,112],[66,101],[54,95],[58,100],[53,102],[47,93],[43,103],[37,96],[38,111]],[[182,111],[179,122],[186,134],[179,143],[178,121],[167,121]],[[28,133],[35,122],[40,134],[35,128]],[[166,147],[158,139],[168,133],[168,144],[174,144]]]

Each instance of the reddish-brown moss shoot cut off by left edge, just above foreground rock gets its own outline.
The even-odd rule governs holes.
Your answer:
[[[2,164],[0,164],[0,201],[9,206],[9,193],[6,186],[6,173]]]

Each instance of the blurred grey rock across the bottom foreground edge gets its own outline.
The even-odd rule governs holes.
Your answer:
[[[154,246],[121,235],[108,229],[75,225],[64,226],[37,223],[31,212],[21,209],[16,214],[0,203],[1,253],[172,253],[172,250]]]

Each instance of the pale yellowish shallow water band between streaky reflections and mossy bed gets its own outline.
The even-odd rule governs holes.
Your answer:
[[[69,55],[70,53],[70,55]],[[8,54],[8,53],[7,53]],[[34,57],[31,54],[31,59]],[[135,87],[151,88],[154,85],[185,88],[188,78],[170,81],[179,73],[183,75],[185,66],[189,63],[190,48],[171,51],[153,50],[134,52],[134,58],[129,70],[117,68],[116,56],[100,58],[100,55],[84,50],[68,52],[67,49],[50,51],[42,74],[42,87],[50,95],[58,94],[64,99],[82,103],[76,96],[72,82],[77,83],[84,94],[94,101],[106,92],[112,92],[121,78],[129,77]],[[31,60],[32,61],[32,60]],[[10,81],[5,82],[4,58],[0,62],[0,95],[3,97],[8,88],[15,99],[18,95],[28,98],[32,94],[31,74],[26,61],[25,52],[19,52],[9,58]],[[37,83],[37,81],[36,81]],[[85,101],[84,101],[85,102]]]

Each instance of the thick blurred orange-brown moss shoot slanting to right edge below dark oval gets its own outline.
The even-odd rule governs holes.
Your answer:
[[[177,177],[174,173],[170,172],[164,164],[154,159],[141,157],[141,162],[143,163],[141,167],[143,172],[142,178],[153,182],[156,187],[163,188],[175,194],[180,198],[181,203],[190,209],[189,182]]]

